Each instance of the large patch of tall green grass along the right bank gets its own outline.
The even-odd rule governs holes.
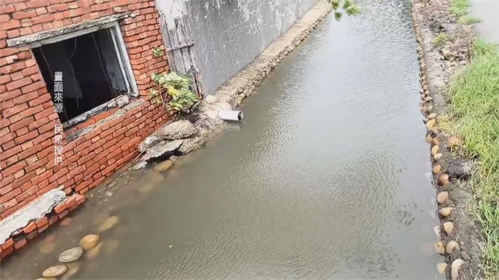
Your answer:
[[[451,82],[451,122],[444,123],[464,140],[467,155],[479,161],[471,179],[472,206],[486,240],[484,273],[499,279],[499,51],[479,39],[472,53],[468,68]]]

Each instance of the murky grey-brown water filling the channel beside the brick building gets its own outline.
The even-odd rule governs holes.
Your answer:
[[[93,191],[2,277],[39,277],[117,215],[74,278],[435,279],[410,4],[368,2],[362,16],[322,22],[245,101],[243,123],[171,170]]]

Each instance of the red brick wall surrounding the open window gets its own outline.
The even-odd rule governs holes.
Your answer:
[[[6,39],[124,11],[135,15],[120,20],[120,28],[139,93],[147,99],[151,74],[169,69],[166,56],[151,55],[163,46],[154,0],[0,0],[0,220],[61,184],[68,193],[98,185],[166,121],[147,101],[69,143],[64,135],[64,164],[54,166],[54,126],[60,121],[50,94],[31,50],[6,46]]]

